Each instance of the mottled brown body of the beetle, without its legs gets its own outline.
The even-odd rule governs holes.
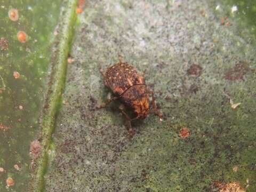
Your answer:
[[[107,69],[105,85],[117,97],[132,108],[137,118],[146,118],[149,113],[149,97],[145,79],[127,63],[119,62]]]

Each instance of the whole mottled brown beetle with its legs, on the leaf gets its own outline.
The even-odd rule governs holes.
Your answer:
[[[122,62],[119,58],[119,62],[109,67],[105,74],[102,69],[100,69],[100,73],[104,77],[105,85],[109,87],[116,96],[97,108],[106,107],[110,102],[120,99],[121,102],[124,103],[127,108],[132,109],[136,115],[135,118],[130,118],[124,111],[124,105],[119,107],[127,120],[131,135],[134,134],[131,121],[144,119],[150,112],[154,112],[162,121],[163,115],[156,107],[154,92],[148,90],[145,79],[137,73],[135,68],[130,66],[127,62]],[[149,94],[151,94],[152,97],[152,110],[150,110],[149,107]]]

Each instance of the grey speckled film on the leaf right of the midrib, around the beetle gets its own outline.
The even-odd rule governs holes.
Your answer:
[[[213,181],[249,183],[246,191],[256,191],[255,47],[235,17],[220,25],[226,13],[216,5],[86,1],[49,153],[47,192],[211,191]],[[132,139],[118,103],[94,110],[110,92],[99,68],[114,65],[118,54],[145,70],[165,115],[163,122],[151,115],[133,123]],[[225,78],[241,62],[250,68],[240,71],[243,79]],[[189,73],[195,65],[200,71]],[[179,136],[182,127],[189,137]]]

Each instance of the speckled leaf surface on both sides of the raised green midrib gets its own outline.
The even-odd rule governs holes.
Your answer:
[[[35,173],[29,147],[38,138],[39,116],[46,116],[46,77],[56,64],[51,53],[63,51],[58,42],[66,38],[54,39],[53,32],[58,21],[58,31],[71,30],[62,25],[67,2],[0,5],[0,38],[9,42],[0,52],[6,85],[0,123],[11,127],[0,129],[0,191],[27,191],[29,173]],[[238,11],[232,13],[234,5]],[[11,8],[19,10],[18,21],[8,18]],[[255,12],[254,1],[86,1],[71,23],[74,62],[45,148],[50,161],[44,190],[194,192],[211,191],[214,181],[239,181],[256,191]],[[17,41],[19,30],[29,35],[25,44]],[[132,139],[118,102],[94,110],[110,93],[98,69],[118,62],[118,54],[145,71],[165,116],[163,122],[154,115],[134,122]],[[202,68],[197,76],[188,73],[193,65]],[[230,100],[241,105],[233,109]],[[182,127],[190,130],[188,138],[179,136]],[[9,189],[7,177],[15,182]]]

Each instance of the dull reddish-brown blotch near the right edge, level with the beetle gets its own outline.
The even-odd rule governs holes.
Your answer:
[[[246,62],[236,63],[235,67],[229,69],[225,74],[225,79],[229,81],[243,80],[244,75],[246,75],[251,70],[250,66]]]

